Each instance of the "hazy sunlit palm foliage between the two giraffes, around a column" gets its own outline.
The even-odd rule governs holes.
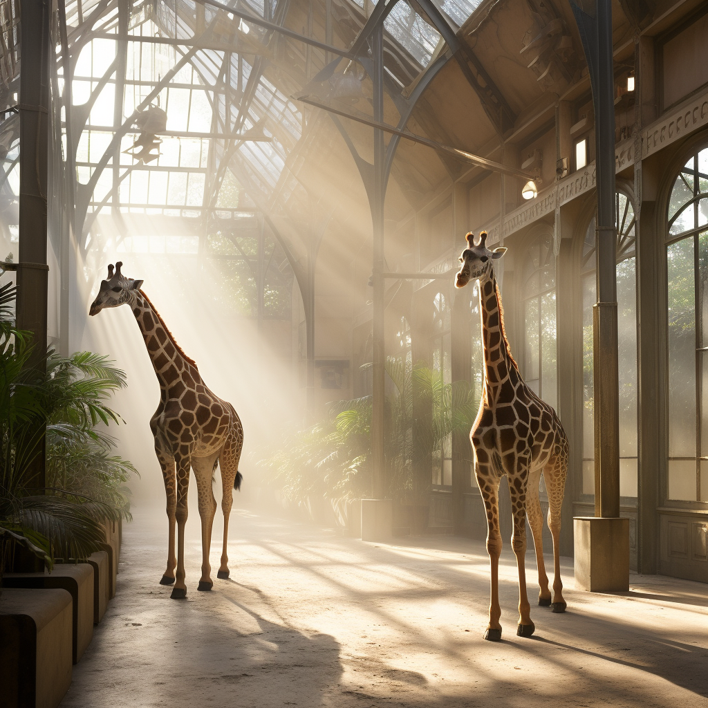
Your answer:
[[[442,374],[401,358],[385,364],[384,455],[389,493],[410,498],[430,489],[430,458],[476,416],[467,382],[446,384]],[[336,401],[312,428],[290,435],[258,462],[269,483],[292,503],[308,498],[362,498],[371,493],[371,396]]]

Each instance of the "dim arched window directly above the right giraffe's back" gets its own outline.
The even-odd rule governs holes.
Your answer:
[[[526,251],[523,273],[525,382],[556,406],[556,256],[552,234],[539,236]]]

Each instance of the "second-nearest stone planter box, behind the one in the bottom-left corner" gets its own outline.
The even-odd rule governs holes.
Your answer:
[[[52,573],[6,573],[6,588],[62,588],[72,597],[72,660],[77,663],[93,637],[93,568],[88,563],[62,563]]]

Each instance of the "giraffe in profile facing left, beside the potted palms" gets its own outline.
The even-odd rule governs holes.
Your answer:
[[[202,523],[202,576],[198,590],[211,590],[209,548],[217,503],[212,479],[217,464],[221,467],[224,513],[224,545],[217,578],[229,577],[227,537],[233,489],[241,486],[239,458],[244,430],[234,407],[222,401],[205,385],[197,365],[178,346],[164,320],[140,289],[142,280],[132,280],[120,273],[122,263],[108,266],[108,280],[101,281],[98,296],[91,304],[90,315],[107,307],[127,304],[135,315],[147,346],[147,353],[160,384],[160,403],[150,420],[155,453],[162,469],[167,497],[169,548],[167,569],[161,585],[172,585],[171,597],[187,596],[184,570],[184,528],[187,521],[187,491],[190,467],[194,470]],[[177,557],[175,558],[175,522]],[[175,566],[177,572],[175,573]]]

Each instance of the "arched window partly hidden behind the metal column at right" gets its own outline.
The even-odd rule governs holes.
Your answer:
[[[636,497],[636,217],[629,197],[617,192],[617,343],[619,353],[619,496]],[[593,305],[597,302],[595,219],[583,244],[583,493],[595,493]]]

